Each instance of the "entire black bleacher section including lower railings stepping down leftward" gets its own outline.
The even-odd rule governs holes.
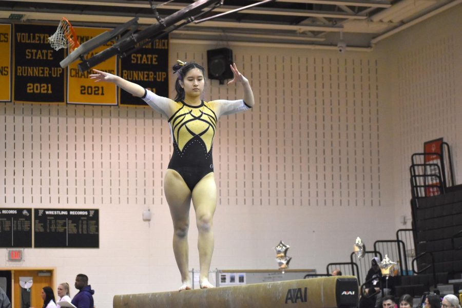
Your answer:
[[[362,285],[371,259],[388,255],[398,263],[398,275],[386,280],[397,298],[462,290],[462,185],[454,183],[449,145],[442,139],[436,142],[441,142],[439,152],[412,156],[412,229],[398,230],[396,239],[376,241],[371,251],[364,247],[362,259],[352,253],[350,262],[329,263],[326,274],[316,276],[339,268],[343,275],[357,276]],[[383,283],[382,288],[390,287]]]

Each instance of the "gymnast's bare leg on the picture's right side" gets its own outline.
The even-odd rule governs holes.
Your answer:
[[[200,263],[199,284],[201,288],[214,287],[208,281],[208,271],[214,252],[212,226],[217,206],[217,185],[213,172],[204,176],[192,190],[192,204],[196,210],[196,223],[199,231],[197,242]]]

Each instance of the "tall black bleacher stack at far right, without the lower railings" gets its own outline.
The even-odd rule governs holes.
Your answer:
[[[440,143],[439,149],[414,153],[411,158],[417,275],[402,277],[401,284],[456,293],[462,284],[462,185],[454,182],[449,144],[442,139],[429,143]]]

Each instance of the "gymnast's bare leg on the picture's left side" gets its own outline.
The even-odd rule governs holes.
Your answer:
[[[188,265],[188,227],[191,191],[177,171],[167,169],[164,178],[165,198],[174,224],[173,249],[181,274],[180,291],[190,290]]]

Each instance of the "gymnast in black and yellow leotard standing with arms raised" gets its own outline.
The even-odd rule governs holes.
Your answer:
[[[196,211],[199,233],[199,285],[201,288],[214,287],[208,281],[208,272],[214,251],[212,226],[217,206],[217,185],[212,160],[217,121],[222,115],[245,111],[255,104],[254,93],[248,80],[239,72],[235,63],[230,67],[234,78],[228,85],[242,84],[242,100],[202,100],[205,85],[204,68],[194,62],[178,60],[174,65],[174,72],[178,74],[175,100],[160,97],[138,84],[107,72],[94,69],[94,74],[90,75],[95,82],[114,83],[132,95],[142,98],[152,109],[168,119],[174,149],[165,173],[164,192],[174,226],[173,249],[182,281],[179,291],[191,289],[188,270],[191,200]]]

